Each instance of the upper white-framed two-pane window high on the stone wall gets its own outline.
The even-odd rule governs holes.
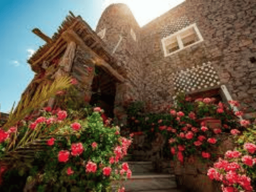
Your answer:
[[[204,41],[204,39],[194,23],[163,38],[161,41],[163,44],[164,56],[166,57],[186,47]]]

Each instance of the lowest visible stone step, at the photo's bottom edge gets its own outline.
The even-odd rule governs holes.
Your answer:
[[[120,184],[125,187],[125,192],[180,192],[177,190],[175,175],[169,174],[132,175],[128,180],[122,180]],[[117,185],[117,182],[112,183],[113,192]]]

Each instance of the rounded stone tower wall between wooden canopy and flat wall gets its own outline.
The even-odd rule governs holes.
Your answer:
[[[140,26],[128,6],[118,3],[108,6],[102,13],[96,33],[104,28],[106,32],[102,40],[117,59],[117,64],[125,71],[126,82],[117,84],[116,105],[122,105],[129,98],[142,100],[143,65],[140,54],[137,54],[140,52]],[[135,40],[132,38],[131,29],[136,35]]]

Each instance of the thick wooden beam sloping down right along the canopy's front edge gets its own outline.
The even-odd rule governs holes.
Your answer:
[[[125,79],[119,73],[117,73],[117,71],[114,70],[113,67],[111,67],[111,65],[109,65],[106,61],[100,58],[99,55],[97,55],[92,49],[90,49],[90,47],[88,47],[72,29],[68,29],[65,32],[63,32],[62,38],[67,42],[74,41],[82,49],[90,53],[90,55],[92,56],[91,61],[94,64],[101,66],[103,69],[107,71],[107,73],[111,73],[119,82],[125,81]]]

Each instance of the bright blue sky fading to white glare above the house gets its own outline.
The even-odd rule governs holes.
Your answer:
[[[34,77],[26,63],[44,41],[31,31],[51,37],[68,11],[96,28],[102,11],[111,3],[127,3],[143,26],[183,0],[6,0],[0,3],[0,111],[8,113]],[[141,6],[145,6],[142,9]],[[157,9],[158,8],[158,9]],[[143,10],[143,12],[142,12]],[[153,12],[154,10],[154,12]]]

